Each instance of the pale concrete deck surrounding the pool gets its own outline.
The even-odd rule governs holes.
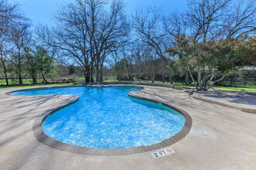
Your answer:
[[[25,89],[25,88],[22,88]],[[11,96],[22,89],[0,89],[0,169],[254,169],[256,114],[193,99],[166,87],[146,87],[139,97],[175,105],[192,117],[192,129],[174,145],[175,154],[154,159],[153,151],[134,155],[80,155],[43,145],[33,122],[68,104],[73,95]],[[197,134],[209,132],[208,136]]]

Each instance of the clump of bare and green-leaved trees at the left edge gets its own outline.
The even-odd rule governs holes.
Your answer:
[[[36,44],[30,31],[31,23],[22,15],[18,5],[0,1],[0,25],[0,59],[6,85],[9,85],[11,73],[19,77],[19,84],[22,84],[25,70],[33,83],[36,83],[38,74],[44,78],[50,73],[54,59],[43,46]]]

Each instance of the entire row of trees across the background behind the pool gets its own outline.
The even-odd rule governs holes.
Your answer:
[[[36,26],[19,5],[0,0],[1,71],[9,76],[76,74],[85,82],[154,80],[208,90],[238,70],[254,68],[254,0],[188,0],[185,11],[137,8],[125,12],[123,1],[75,0],[60,5],[56,26]],[[65,74],[67,75],[67,73]]]

